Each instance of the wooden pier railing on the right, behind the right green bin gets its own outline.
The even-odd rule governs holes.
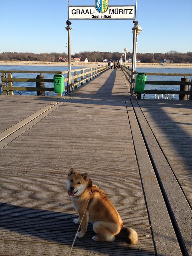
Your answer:
[[[121,65],[121,69],[129,83],[129,85],[131,85],[131,69],[128,67],[125,67],[123,65]],[[135,88],[135,79],[136,79],[136,74],[138,72],[134,72],[134,80],[133,80],[133,89]],[[167,86],[169,85],[171,86],[175,86],[175,85],[179,85],[180,88],[179,90],[158,90],[158,89],[153,89],[153,90],[144,90],[143,93],[145,94],[178,94],[179,95],[179,99],[192,99],[192,82],[189,81],[188,78],[185,78],[186,76],[190,76],[192,77],[191,73],[187,73],[187,74],[183,74],[183,73],[147,73],[147,76],[180,76],[180,77],[184,77],[181,78],[181,81],[155,81],[155,80],[146,80],[145,84],[150,84],[150,85],[163,85],[163,86]],[[140,99],[141,98],[141,93],[135,93],[137,94],[137,98]],[[189,95],[189,97],[188,97]]]

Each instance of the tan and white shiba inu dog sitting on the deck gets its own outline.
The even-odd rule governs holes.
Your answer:
[[[125,238],[129,244],[137,243],[137,232],[132,228],[123,227],[123,221],[115,206],[103,190],[92,185],[87,173],[81,174],[71,168],[67,177],[67,187],[74,208],[79,214],[79,218],[75,219],[74,223],[80,223],[85,212],[78,237],[85,235],[90,222],[97,234],[92,237],[95,241],[113,242],[115,237],[119,236]]]

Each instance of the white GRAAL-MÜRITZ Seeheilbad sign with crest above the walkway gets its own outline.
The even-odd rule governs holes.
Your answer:
[[[135,19],[135,5],[108,6],[107,0],[96,0],[95,6],[69,6],[69,19]]]

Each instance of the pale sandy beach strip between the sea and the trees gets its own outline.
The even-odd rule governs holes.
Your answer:
[[[82,62],[72,62],[72,66],[98,66],[105,65],[103,62],[90,62],[90,63],[82,63]],[[0,61],[1,65],[11,65],[11,66],[68,66],[68,62],[48,62],[48,61]],[[190,63],[137,63],[137,67],[139,68],[192,68],[192,64]]]

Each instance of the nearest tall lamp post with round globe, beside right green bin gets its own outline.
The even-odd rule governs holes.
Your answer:
[[[133,53],[132,53],[132,67],[131,67],[131,88],[130,94],[133,96],[133,81],[134,81],[134,72],[136,66],[136,43],[137,43],[137,36],[140,34],[142,28],[138,25],[138,21],[134,21],[135,26],[132,28],[133,32]]]

